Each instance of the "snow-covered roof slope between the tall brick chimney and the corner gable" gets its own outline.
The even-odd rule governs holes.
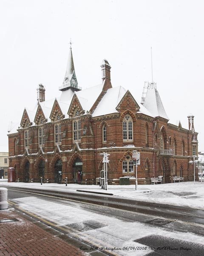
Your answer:
[[[92,116],[103,116],[106,114],[118,113],[116,107],[125,95],[126,91],[127,90],[122,86],[108,89]]]

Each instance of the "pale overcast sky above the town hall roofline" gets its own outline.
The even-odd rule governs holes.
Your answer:
[[[8,150],[8,122],[25,107],[59,96],[69,41],[79,86],[101,83],[100,64],[111,65],[113,87],[141,101],[153,80],[170,122],[188,128],[193,113],[204,150],[204,2],[201,0],[0,0],[0,148]]]

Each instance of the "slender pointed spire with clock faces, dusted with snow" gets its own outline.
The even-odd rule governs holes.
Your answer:
[[[81,88],[78,87],[77,77],[75,74],[74,69],[74,61],[73,61],[73,55],[71,50],[71,45],[73,43],[70,40],[70,47],[69,47],[69,55],[68,55],[68,61],[67,61],[67,68],[65,72],[65,78],[63,81],[63,85],[59,87],[59,90],[65,91],[71,88],[74,91],[81,90]]]

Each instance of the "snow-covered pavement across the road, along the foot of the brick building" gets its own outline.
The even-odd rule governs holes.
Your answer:
[[[79,184],[57,184],[57,183],[8,183],[0,180],[0,186],[32,187],[34,189],[51,189],[76,192],[77,189],[92,192],[108,192],[114,196],[135,199],[138,201],[148,201],[152,203],[170,204],[177,206],[187,206],[195,209],[204,209],[204,182],[180,182],[156,185],[108,185],[108,190],[101,189],[99,185],[79,185]],[[145,192],[148,191],[148,192]],[[77,192],[76,192],[77,193]]]

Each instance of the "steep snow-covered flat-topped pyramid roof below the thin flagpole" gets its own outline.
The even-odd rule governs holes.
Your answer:
[[[168,116],[164,110],[164,106],[161,102],[161,98],[159,96],[159,92],[156,88],[150,88],[147,90],[147,95],[144,100],[143,105],[153,116],[161,116],[165,119],[168,119]]]

